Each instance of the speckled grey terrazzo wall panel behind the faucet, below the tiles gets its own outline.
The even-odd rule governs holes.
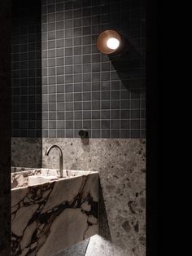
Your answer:
[[[144,256],[146,254],[146,140],[145,139],[42,139],[42,167],[99,171],[106,218],[100,235],[90,238],[85,256]],[[107,227],[106,223],[107,220]],[[103,232],[102,227],[105,227]],[[104,237],[105,238],[104,238]],[[106,238],[107,237],[107,238]],[[72,248],[71,248],[72,250]],[[74,249],[74,252],[76,249]],[[66,256],[67,252],[59,254]],[[74,254],[75,255],[75,254]]]

